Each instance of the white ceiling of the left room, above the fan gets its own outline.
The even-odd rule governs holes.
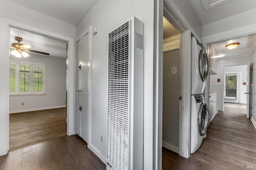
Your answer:
[[[29,31],[24,31],[22,29],[17,28],[10,28],[10,46],[12,43],[18,43],[15,41],[15,37],[21,37],[23,39],[22,44],[29,44],[32,45],[30,49],[41,51],[45,53],[49,53],[49,57],[58,57],[58,58],[64,58],[66,59],[66,45],[67,42],[52,39],[49,37],[45,37],[43,35],[39,35],[36,33],[32,33]],[[31,57],[33,57],[33,54],[30,53]],[[37,54],[41,55],[41,54]],[[48,55],[43,55],[48,56]]]

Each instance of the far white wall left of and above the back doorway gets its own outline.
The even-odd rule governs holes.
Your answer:
[[[223,90],[224,90],[224,67],[247,65],[250,62],[250,55],[239,57],[218,58],[217,72],[210,75],[210,92],[217,92],[217,110],[223,111]],[[217,80],[220,79],[220,82]]]

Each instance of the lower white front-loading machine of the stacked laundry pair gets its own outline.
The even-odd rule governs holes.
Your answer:
[[[191,95],[190,153],[201,146],[209,124],[209,111],[202,94]]]

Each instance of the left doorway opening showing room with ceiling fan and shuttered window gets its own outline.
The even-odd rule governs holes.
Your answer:
[[[14,42],[17,37],[22,42]],[[33,50],[25,48],[29,56],[12,55],[21,43],[33,45]],[[9,150],[67,134],[67,45],[67,41],[10,27]]]

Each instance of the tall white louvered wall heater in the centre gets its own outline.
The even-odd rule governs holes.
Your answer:
[[[108,34],[107,170],[143,170],[144,24]]]

